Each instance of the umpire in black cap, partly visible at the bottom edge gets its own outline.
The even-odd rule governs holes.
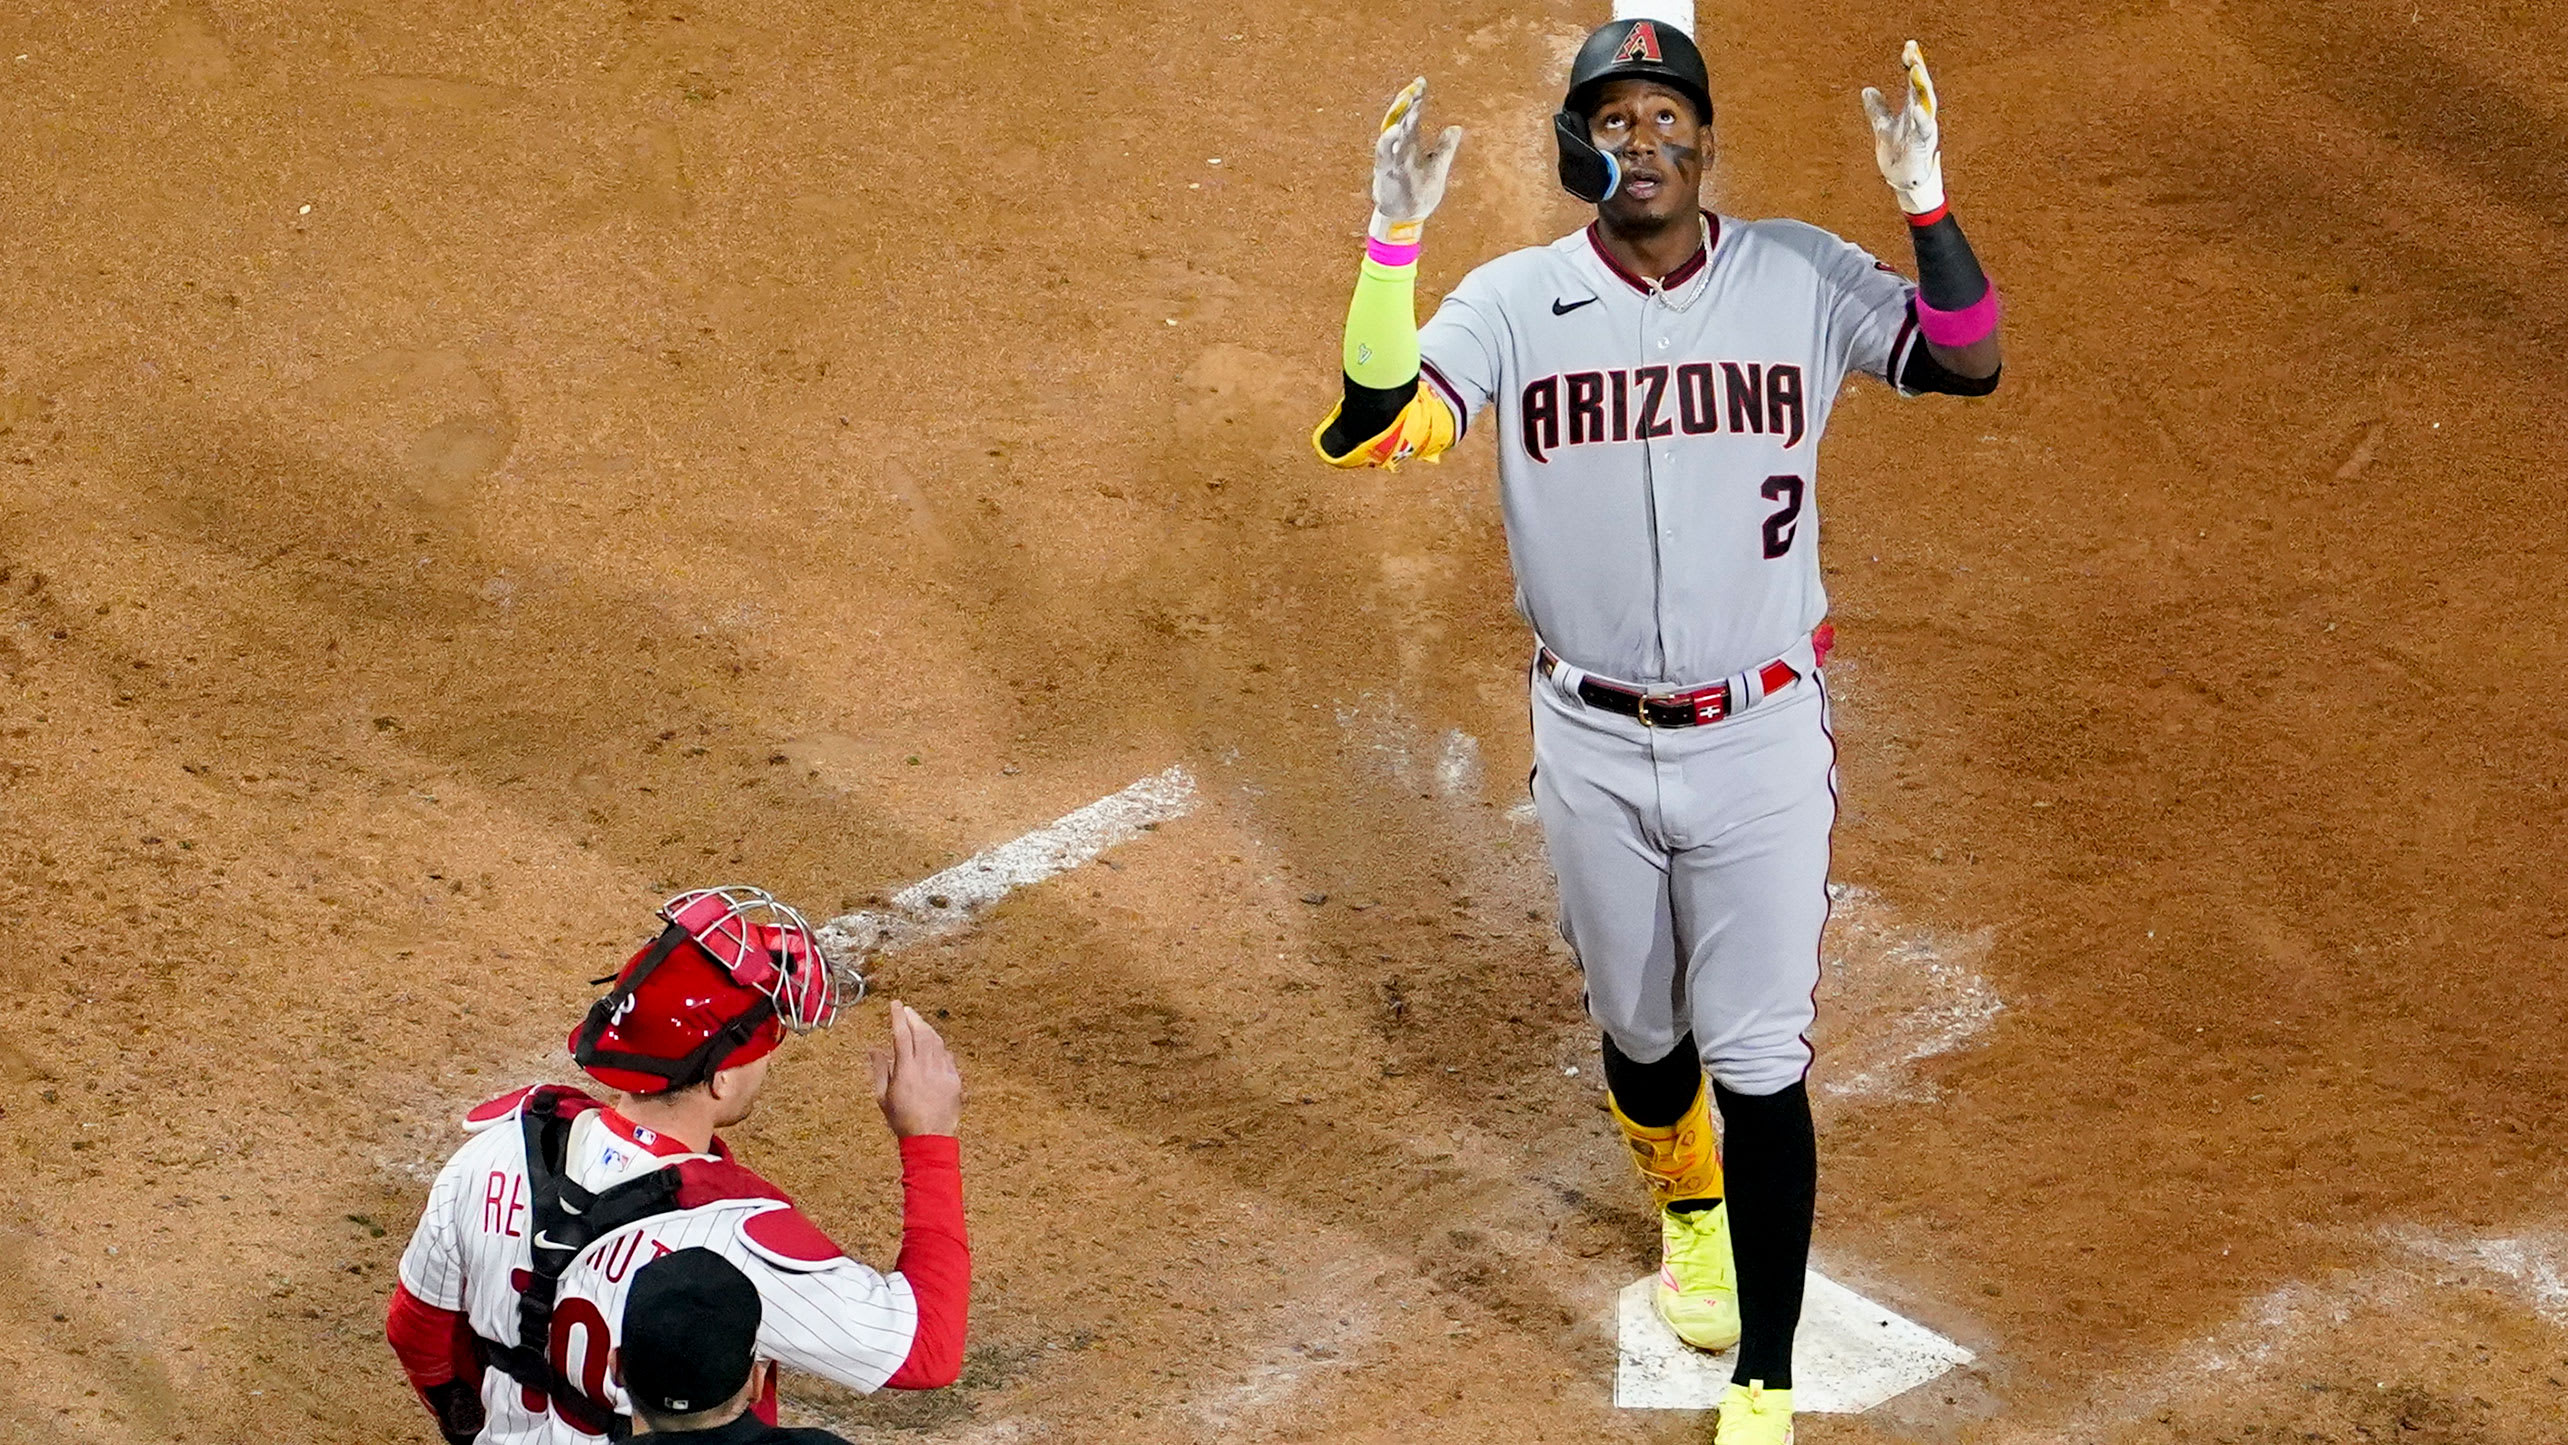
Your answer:
[[[776,1363],[758,1358],[758,1286],[714,1250],[660,1255],[634,1273],[616,1378],[652,1440],[850,1445],[760,1419],[776,1412]]]

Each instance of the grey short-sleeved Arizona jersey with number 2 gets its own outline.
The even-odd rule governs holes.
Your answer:
[[[1916,287],[1859,246],[1705,221],[1659,295],[1590,226],[1474,269],[1418,334],[1456,418],[1497,406],[1518,611],[1626,683],[1728,678],[1818,626],[1828,408],[1916,344]]]

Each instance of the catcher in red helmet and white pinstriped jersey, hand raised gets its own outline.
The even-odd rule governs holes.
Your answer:
[[[758,1355],[858,1391],[937,1389],[963,1365],[971,1245],[955,1124],[963,1078],[917,1011],[891,1006],[873,1093],[901,1150],[891,1276],[840,1253],[716,1129],[750,1116],[786,1032],[837,1016],[804,916],[758,888],[704,888],[570,1034],[609,1101],[532,1086],[465,1116],[393,1291],[393,1353],[449,1442],[632,1435],[611,1371],[639,1265],[686,1247],[758,1286]],[[755,1414],[776,1422],[773,1371]]]

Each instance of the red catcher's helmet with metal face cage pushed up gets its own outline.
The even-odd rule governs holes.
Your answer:
[[[763,888],[698,888],[570,1032],[570,1057],[627,1093],[693,1088],[755,1063],[786,1029],[837,1019],[837,978],[799,911]],[[603,980],[601,980],[603,983]],[[863,980],[858,980],[863,993]]]

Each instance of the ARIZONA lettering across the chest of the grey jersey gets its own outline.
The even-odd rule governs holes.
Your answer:
[[[1610,372],[1556,372],[1525,382],[1518,426],[1525,454],[1561,447],[1731,434],[1800,447],[1803,382],[1792,362],[1677,362]]]

